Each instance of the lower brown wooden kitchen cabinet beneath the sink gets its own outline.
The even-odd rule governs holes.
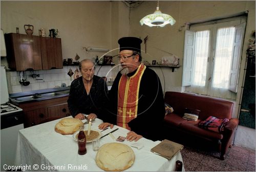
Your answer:
[[[68,97],[19,104],[18,107],[24,111],[24,127],[38,125],[40,122],[52,117],[70,116],[67,103]]]

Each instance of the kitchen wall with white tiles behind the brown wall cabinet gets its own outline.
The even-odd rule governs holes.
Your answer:
[[[63,59],[73,58],[75,61],[76,54],[80,57],[79,61],[94,59],[97,55],[100,58],[104,53],[87,52],[83,47],[111,49],[111,5],[109,1],[1,1],[1,29],[4,33],[16,33],[18,27],[20,34],[26,34],[24,24],[32,24],[33,35],[37,36],[40,28],[46,28],[47,36],[49,29],[58,29]],[[1,57],[1,65],[8,66],[6,57]],[[70,68],[73,71],[76,69],[75,66],[63,66],[63,69],[36,71],[40,74],[37,79],[42,80],[31,78],[30,72],[26,71],[31,83],[29,86],[19,84],[18,72],[8,71],[9,93],[53,88],[61,83],[68,86],[71,83],[67,75]],[[109,70],[109,66],[102,67],[99,75],[106,76]],[[113,78],[116,72],[117,70],[113,74],[111,72]]]

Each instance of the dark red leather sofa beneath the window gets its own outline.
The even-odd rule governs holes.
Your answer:
[[[173,136],[182,137],[185,145],[198,139],[208,141],[216,145],[215,148],[221,153],[220,158],[224,160],[224,155],[228,147],[231,147],[234,131],[239,122],[237,118],[231,118],[233,103],[209,96],[181,92],[165,92],[164,100],[174,109],[174,112],[167,114],[164,118],[164,128],[167,131],[165,138],[174,140]],[[185,108],[200,110],[198,121],[182,118]],[[198,127],[199,122],[209,116],[229,119],[222,133]]]

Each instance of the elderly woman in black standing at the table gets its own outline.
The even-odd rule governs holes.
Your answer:
[[[71,83],[68,106],[74,118],[101,118],[100,112],[107,101],[108,87],[104,79],[94,75],[94,62],[84,59],[79,64],[81,77]]]

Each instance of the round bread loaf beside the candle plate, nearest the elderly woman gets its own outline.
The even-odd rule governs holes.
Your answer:
[[[73,134],[77,130],[79,130],[79,127],[83,126],[83,122],[80,119],[76,118],[64,118],[61,119],[56,125],[55,125],[55,131],[57,133],[68,135]]]

